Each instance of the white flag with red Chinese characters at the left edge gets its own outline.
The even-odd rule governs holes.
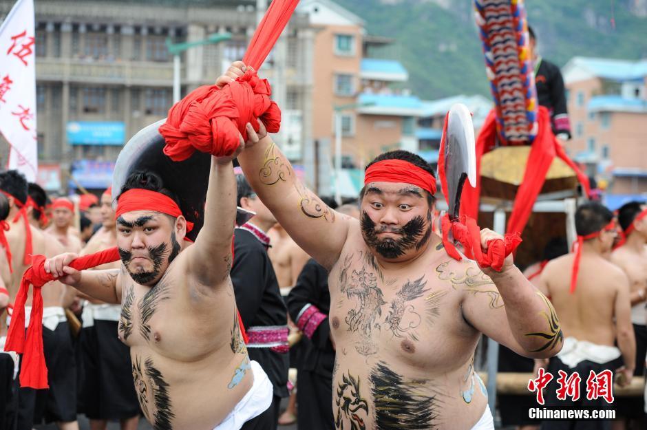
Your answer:
[[[18,0],[0,25],[0,133],[10,145],[8,169],[36,181],[34,0]]]

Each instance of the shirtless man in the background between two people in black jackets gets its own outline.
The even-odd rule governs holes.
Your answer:
[[[304,252],[286,233],[281,224],[275,224],[268,231],[272,247],[267,253],[274,266],[281,294],[286,296],[295,285],[301,269],[304,268],[310,256]]]

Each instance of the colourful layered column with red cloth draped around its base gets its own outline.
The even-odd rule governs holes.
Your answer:
[[[588,178],[555,138],[548,109],[538,106],[523,0],[474,0],[474,9],[495,107],[476,140],[476,187],[463,190],[460,215],[478,217],[480,160],[484,153],[500,145],[531,145],[506,228],[507,233],[521,234],[555,156],[571,166],[586,195]]]

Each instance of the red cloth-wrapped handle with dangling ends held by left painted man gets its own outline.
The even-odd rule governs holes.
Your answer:
[[[96,252],[96,254],[78,257],[70,267],[76,270],[84,270],[100,266],[101,264],[112,263],[120,259],[117,247]],[[45,256],[34,255],[32,267],[25,270],[23,280],[20,283],[20,290],[14,303],[14,311],[11,316],[11,324],[7,334],[5,351],[14,351],[23,354],[22,367],[20,372],[21,387],[35,389],[47,388],[47,367],[43,354],[43,295],[41,288],[45,283],[53,281],[52,274],[45,272]],[[29,286],[34,286],[32,298],[32,315],[25,338],[25,301]]]

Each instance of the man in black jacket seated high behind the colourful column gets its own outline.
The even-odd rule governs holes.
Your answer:
[[[547,107],[551,113],[551,126],[553,133],[561,140],[571,138],[571,122],[569,111],[566,110],[566,91],[564,78],[560,68],[544,60],[536,49],[535,32],[528,27],[530,34],[530,49],[535,65],[535,87],[539,104]]]

